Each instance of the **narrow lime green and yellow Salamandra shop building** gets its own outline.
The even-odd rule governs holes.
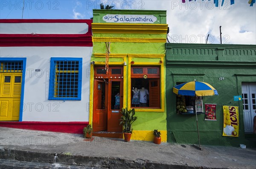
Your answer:
[[[138,117],[131,139],[152,141],[157,129],[167,141],[167,29],[166,11],[93,10],[89,117],[93,135],[122,138],[120,111],[127,107],[134,108]]]

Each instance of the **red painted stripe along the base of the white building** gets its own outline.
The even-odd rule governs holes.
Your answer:
[[[0,127],[11,127],[17,129],[40,130],[49,132],[66,132],[83,134],[83,128],[89,124],[88,121],[72,122],[42,122],[42,121],[0,121]]]

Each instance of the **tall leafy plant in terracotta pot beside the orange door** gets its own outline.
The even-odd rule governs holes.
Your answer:
[[[122,108],[122,116],[121,116],[121,122],[120,125],[123,125],[123,133],[124,133],[124,137],[125,137],[125,141],[129,142],[131,139],[131,133],[132,133],[132,126],[131,124],[133,124],[133,122],[137,119],[135,115],[135,110],[134,109],[130,109],[127,110],[127,108]]]

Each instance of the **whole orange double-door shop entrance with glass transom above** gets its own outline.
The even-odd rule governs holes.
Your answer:
[[[122,132],[122,125],[119,125],[120,111],[123,105],[122,67],[109,68],[109,76],[105,74],[104,68],[96,67],[95,69],[93,89],[94,135],[95,132]],[[120,71],[112,71],[113,69],[120,69]],[[101,74],[99,75],[99,73]]]

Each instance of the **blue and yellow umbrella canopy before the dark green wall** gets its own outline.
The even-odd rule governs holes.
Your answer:
[[[173,87],[173,93],[183,96],[213,96],[217,90],[206,82],[185,82]]]

